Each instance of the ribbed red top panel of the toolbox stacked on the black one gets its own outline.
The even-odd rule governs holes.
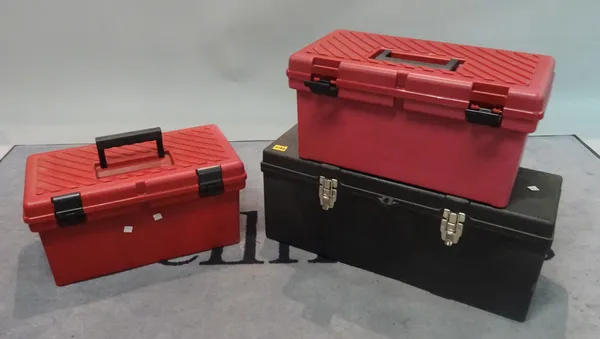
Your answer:
[[[375,60],[372,57],[373,54],[384,48],[413,55],[457,58],[466,62],[453,72]],[[345,30],[338,30],[327,35],[308,45],[300,53],[444,74],[470,81],[485,80],[497,84],[519,86],[531,84],[540,61],[545,58],[545,56],[529,53]]]

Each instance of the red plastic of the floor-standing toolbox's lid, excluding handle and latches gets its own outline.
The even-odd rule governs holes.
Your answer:
[[[94,210],[197,190],[199,168],[220,166],[226,190],[245,181],[241,160],[216,125],[165,132],[162,139],[165,157],[157,156],[154,141],[114,147],[106,150],[107,168],[100,167],[94,144],[29,156],[25,221],[51,220],[52,197],[74,192]]]

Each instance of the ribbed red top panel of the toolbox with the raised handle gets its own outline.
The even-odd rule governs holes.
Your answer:
[[[72,192],[81,187],[123,181],[131,178],[143,179],[163,175],[181,168],[211,166],[231,159],[230,146],[216,126],[202,126],[163,134],[164,148],[173,159],[171,166],[137,170],[129,173],[98,178],[98,153],[95,145],[64,149],[37,154],[36,195],[56,196]],[[226,147],[224,145],[226,144]],[[145,142],[135,145],[110,148],[106,151],[109,164],[121,164],[141,158],[157,157],[156,143]]]

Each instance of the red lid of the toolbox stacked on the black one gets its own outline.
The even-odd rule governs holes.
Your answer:
[[[554,64],[538,54],[337,30],[292,54],[287,76],[299,91],[461,120],[489,112],[501,115],[496,127],[533,132]]]

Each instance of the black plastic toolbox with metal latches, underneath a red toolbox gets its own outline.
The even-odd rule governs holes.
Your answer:
[[[521,168],[510,204],[497,209],[300,159],[296,128],[264,150],[261,169],[268,238],[525,321],[553,242],[560,176]],[[329,210],[319,176],[338,180]],[[441,238],[444,209],[466,214],[452,246]]]

